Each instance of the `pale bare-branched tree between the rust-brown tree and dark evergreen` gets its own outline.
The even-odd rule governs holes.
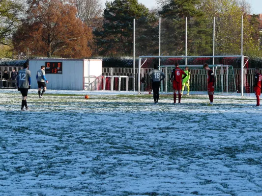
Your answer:
[[[77,16],[88,26],[92,19],[101,17],[101,0],[76,0]]]

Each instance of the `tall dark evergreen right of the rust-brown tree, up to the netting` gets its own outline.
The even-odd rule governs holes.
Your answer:
[[[102,55],[130,55],[133,51],[133,19],[149,17],[149,10],[137,0],[106,2],[102,29],[94,34]]]

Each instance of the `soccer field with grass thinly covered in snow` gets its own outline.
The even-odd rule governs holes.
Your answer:
[[[29,91],[0,90],[1,196],[262,196],[254,95]]]

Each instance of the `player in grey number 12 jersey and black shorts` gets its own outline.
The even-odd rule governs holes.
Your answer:
[[[22,106],[21,110],[24,111],[24,107],[28,110],[27,104],[27,96],[28,90],[30,89],[31,85],[31,72],[28,70],[28,63],[24,63],[24,69],[20,70],[17,76],[17,90],[21,92],[22,98]]]

